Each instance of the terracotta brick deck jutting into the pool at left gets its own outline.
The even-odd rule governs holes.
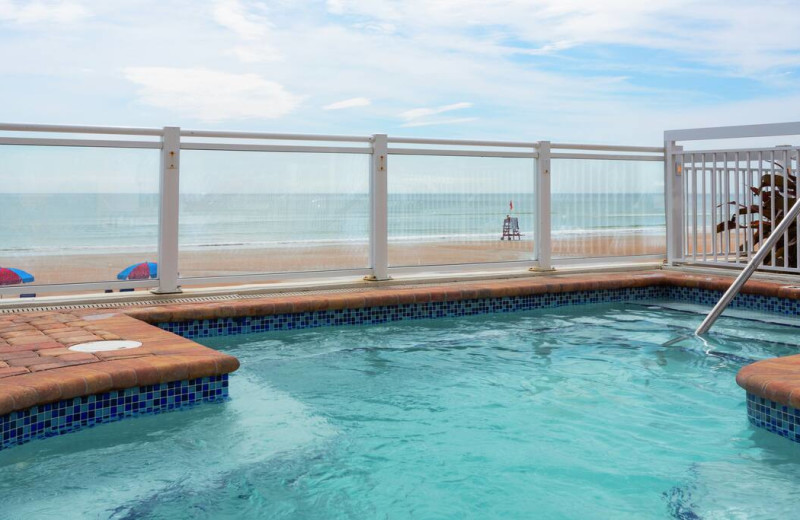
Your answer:
[[[239,367],[233,356],[122,313],[0,316],[0,338],[0,415],[110,390],[227,374]],[[104,339],[142,346],[98,353],[68,349]]]

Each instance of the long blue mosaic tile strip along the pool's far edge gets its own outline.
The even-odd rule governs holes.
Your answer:
[[[664,287],[632,287],[604,291],[576,291],[557,294],[532,294],[505,298],[424,302],[378,306],[361,309],[337,309],[298,314],[244,316],[182,322],[159,323],[158,326],[185,338],[208,338],[233,334],[250,334],[275,330],[315,327],[375,325],[403,320],[452,318],[497,312],[517,312],[590,303],[614,303],[632,300],[662,299]]]

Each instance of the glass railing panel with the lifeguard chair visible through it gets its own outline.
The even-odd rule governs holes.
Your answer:
[[[389,265],[533,259],[534,171],[526,158],[390,155]]]

